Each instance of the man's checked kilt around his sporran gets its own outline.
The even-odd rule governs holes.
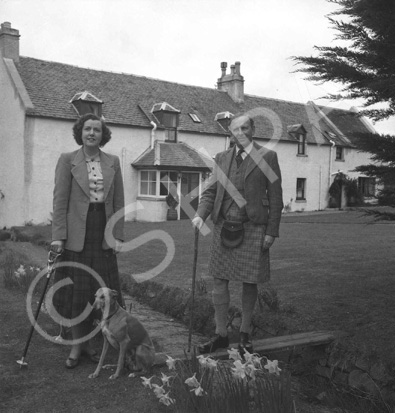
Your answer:
[[[262,251],[266,233],[265,225],[255,225],[251,221],[245,222],[242,244],[237,248],[230,249],[222,245],[222,224],[223,219],[219,219],[214,225],[209,274],[214,278],[251,284],[269,281],[269,250]]]

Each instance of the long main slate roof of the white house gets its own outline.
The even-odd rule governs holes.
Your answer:
[[[325,131],[338,135],[323,118],[316,125],[319,127],[312,125],[311,116],[316,109],[302,103],[246,94],[244,103],[237,104],[226,92],[216,89],[30,57],[20,57],[15,66],[34,105],[27,113],[29,116],[75,120],[70,100],[76,93],[88,91],[104,102],[102,113],[109,124],[151,128],[150,121],[156,120],[150,112],[153,105],[168,102],[181,111],[178,130],[183,132],[225,135],[226,131],[214,120],[217,113],[252,110],[265,115],[255,118],[258,138],[296,142],[287,132],[287,127],[295,124],[304,126],[308,143],[329,145]],[[201,123],[193,122],[189,113],[198,115]],[[331,110],[328,117],[345,135],[367,132],[353,112]],[[338,144],[351,145],[341,138]]]

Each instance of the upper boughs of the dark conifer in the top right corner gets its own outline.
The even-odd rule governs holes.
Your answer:
[[[327,0],[340,9],[328,19],[344,47],[315,46],[317,57],[294,56],[308,80],[344,85],[330,99],[362,99],[361,115],[374,121],[395,115],[395,2],[393,0]],[[338,16],[346,16],[345,21]],[[371,108],[385,104],[381,109]]]

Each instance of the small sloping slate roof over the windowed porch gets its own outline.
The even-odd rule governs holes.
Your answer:
[[[152,166],[163,169],[179,169],[209,171],[214,162],[211,158],[200,154],[186,143],[155,141],[154,147],[143,152],[132,165],[137,169]]]

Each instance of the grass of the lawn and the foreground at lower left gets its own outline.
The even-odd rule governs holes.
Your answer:
[[[271,250],[270,285],[277,293],[280,312],[281,309],[286,310],[282,311],[281,322],[287,331],[343,330],[349,333],[351,345],[394,363],[394,225],[390,221],[375,222],[373,217],[364,216],[359,211],[285,215],[281,237]],[[38,233],[35,239],[40,243],[50,238],[50,227],[27,227],[26,230],[30,236]],[[190,222],[126,224],[127,239],[136,239],[153,230],[170,235],[175,245],[174,258],[153,280],[191,289],[194,234]],[[212,280],[207,276],[210,243],[211,234],[200,236],[197,281],[204,285],[207,297],[210,297],[212,288]],[[119,255],[121,273],[130,276],[150,274],[152,268],[166,257],[167,246],[161,240],[141,244]],[[82,411],[79,409],[84,404],[87,406],[85,411],[112,411],[113,405],[110,406],[108,400],[113,401],[114,397],[117,406],[125,409],[118,411],[128,411],[132,397],[129,393],[133,394],[135,411],[160,411],[162,406],[141,392],[140,383],[128,381],[109,385],[107,380],[85,382],[82,378],[91,372],[90,365],[81,366],[77,373],[64,374],[62,364],[67,349],[59,350],[38,336],[35,336],[29,350],[29,354],[35,354],[33,360],[29,359],[35,365],[33,371],[29,370],[28,374],[18,371],[15,360],[21,356],[29,327],[26,310],[18,304],[24,299],[21,294],[19,297],[16,292],[5,292],[2,288],[0,295],[3,325],[0,348],[3,379],[0,386],[2,397],[9,394],[7,408],[11,410],[8,411],[12,408],[55,411],[61,403],[65,404],[64,411]],[[240,307],[240,285],[237,283],[231,283],[231,300],[232,304]],[[273,314],[278,314],[278,311],[264,308],[263,317],[270,318]],[[75,383],[76,375],[78,383]],[[55,394],[59,400],[54,401],[49,394]],[[73,397],[70,398],[70,394]],[[92,394],[95,394],[94,398]],[[43,398],[46,403],[43,403]]]

